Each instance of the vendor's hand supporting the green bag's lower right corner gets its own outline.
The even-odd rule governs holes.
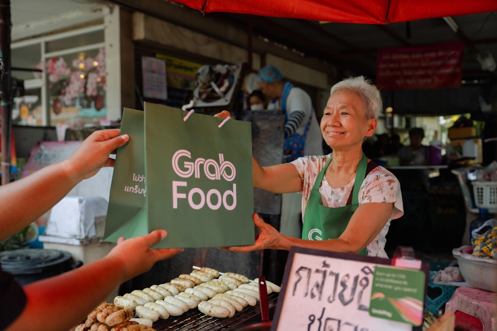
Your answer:
[[[255,235],[255,244],[248,246],[231,246],[231,247],[220,247],[223,250],[237,252],[237,253],[247,253],[252,251],[258,251],[263,249],[289,249],[282,245],[284,236],[278,232],[270,224],[264,222],[262,218],[259,217],[257,213],[253,214],[253,222],[255,226],[259,229],[259,233]]]

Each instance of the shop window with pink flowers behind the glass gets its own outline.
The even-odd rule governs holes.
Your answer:
[[[11,59],[14,124],[106,118],[103,26],[13,43]]]

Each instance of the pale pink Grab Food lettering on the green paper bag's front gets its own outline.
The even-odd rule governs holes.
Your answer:
[[[172,169],[182,178],[200,178],[204,175],[212,181],[225,180],[232,182],[237,176],[237,170],[230,161],[224,160],[224,155],[219,153],[219,162],[213,159],[197,158],[191,160],[191,153],[186,149],[180,149],[172,155]],[[201,209],[204,205],[212,210],[217,210],[223,206],[227,210],[233,210],[237,206],[237,185],[233,183],[233,190],[219,192],[219,190],[211,189],[207,192],[200,188],[187,188],[186,181],[172,181],[172,207],[178,208],[180,199],[187,199],[188,204],[193,209]],[[198,203],[195,200],[200,201]],[[229,197],[233,200],[229,203]]]

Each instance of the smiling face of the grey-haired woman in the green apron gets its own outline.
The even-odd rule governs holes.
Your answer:
[[[362,98],[351,90],[336,91],[328,99],[321,119],[321,133],[333,149],[362,145],[376,129],[376,119],[366,119]]]

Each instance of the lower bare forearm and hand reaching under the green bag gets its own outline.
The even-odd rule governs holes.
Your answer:
[[[182,251],[179,248],[151,249],[165,237],[165,230],[155,230],[136,238],[120,238],[102,259],[24,285],[26,306],[7,330],[70,330],[122,282]]]

